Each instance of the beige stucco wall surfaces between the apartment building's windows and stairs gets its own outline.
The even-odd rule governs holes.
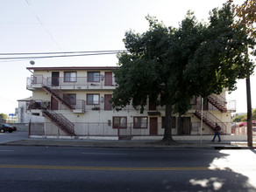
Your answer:
[[[97,70],[92,70],[93,72],[96,72]],[[99,71],[99,70],[98,70]],[[72,70],[53,70],[53,71],[35,71],[34,75],[43,75],[44,78],[51,78],[52,72],[60,72],[60,78],[64,77],[64,72],[73,72]],[[86,70],[77,70],[74,71],[77,72],[77,77],[87,77],[87,71]],[[101,70],[100,75],[104,75],[104,72],[107,72],[106,70]],[[104,81],[101,79],[98,84],[103,85]],[[97,83],[96,83],[97,84]],[[64,93],[75,93],[76,99],[83,99],[86,100],[88,93],[99,93],[100,98],[104,97],[104,94],[111,94],[114,87],[110,87],[110,89],[104,89],[104,87],[98,87],[95,86],[89,87],[89,86],[81,86],[79,89],[77,86],[66,86],[65,89],[63,88]],[[221,93],[221,96],[225,98],[225,91]],[[43,91],[42,89],[36,89],[32,91],[32,99],[42,99],[42,100],[51,100],[51,95]],[[93,134],[93,135],[116,135],[117,129],[112,128],[111,125],[108,125],[108,122],[112,123],[113,116],[124,116],[127,117],[127,123],[128,127],[133,122],[133,117],[135,116],[147,116],[148,110],[145,110],[144,113],[139,113],[139,110],[135,110],[132,108],[132,106],[127,106],[124,108],[124,110],[117,112],[115,110],[111,111],[104,111],[104,103],[100,101],[100,108],[99,111],[92,111],[91,108],[94,105],[86,105],[85,106],[85,113],[73,113],[65,107],[61,107],[61,110],[56,111],[56,113],[62,113],[69,121],[75,123],[75,134],[83,135],[83,134]],[[145,106],[145,109],[147,109],[148,106]],[[213,107],[214,108],[214,107]],[[65,109],[65,110],[62,110]],[[164,107],[158,106],[157,110],[160,112],[159,116],[153,116],[158,118],[158,134],[164,134],[164,129],[161,128],[161,117],[165,116]],[[200,120],[196,118],[194,115],[195,110],[189,110],[186,117],[191,118],[192,123],[192,132],[191,134],[201,134],[201,127],[200,127]],[[223,121],[227,125],[227,133],[231,132],[231,113],[221,113],[217,109],[210,110],[210,113],[213,113],[218,120]],[[41,114],[41,113],[40,113]],[[127,128],[125,130],[120,130],[123,134],[129,134],[129,132],[132,132],[134,135],[141,135],[141,134],[149,134],[149,118],[147,122],[147,128],[140,128],[132,130],[130,128]],[[58,127],[51,125],[49,120],[46,121],[46,127],[45,131],[47,134],[64,134],[59,130]],[[176,120],[176,125],[177,125]],[[100,124],[97,124],[100,123]],[[177,126],[176,126],[177,127]],[[173,134],[177,134],[177,128],[173,129]],[[202,134],[213,134],[213,131],[210,129],[210,127],[203,124]]]

